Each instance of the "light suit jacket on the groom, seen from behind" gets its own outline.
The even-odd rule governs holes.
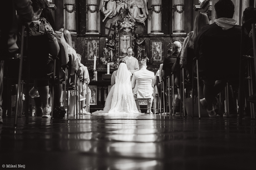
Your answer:
[[[137,98],[152,98],[152,82],[154,78],[154,73],[146,68],[141,68],[139,71],[134,72],[131,80],[133,94],[137,96]]]

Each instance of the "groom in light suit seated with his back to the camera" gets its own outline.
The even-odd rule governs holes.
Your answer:
[[[140,105],[137,98],[151,98],[147,104],[147,113],[152,114],[151,106],[153,100],[153,80],[155,75],[152,71],[147,70],[146,59],[139,62],[139,71],[134,72],[131,80],[132,92],[134,94],[137,109],[140,111]],[[150,108],[150,110],[148,109]],[[141,111],[140,111],[141,112]]]

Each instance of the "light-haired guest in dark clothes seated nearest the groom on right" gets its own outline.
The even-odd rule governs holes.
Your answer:
[[[178,97],[175,98],[175,112],[179,114],[180,112],[180,51],[181,51],[181,43],[175,41],[172,45],[171,51],[168,58],[164,60],[163,63],[163,78],[164,78],[164,85],[166,86],[167,77],[171,78],[171,74],[173,73],[174,76],[174,83],[178,87]],[[171,81],[170,81],[171,82]],[[166,87],[165,87],[166,88]]]

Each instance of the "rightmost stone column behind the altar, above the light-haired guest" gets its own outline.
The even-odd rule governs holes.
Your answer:
[[[183,42],[186,37],[184,27],[184,0],[173,0],[174,22],[173,22],[173,41]]]

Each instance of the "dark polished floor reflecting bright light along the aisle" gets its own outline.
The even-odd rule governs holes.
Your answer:
[[[13,122],[0,125],[0,169],[256,169],[250,119],[143,114]]]

